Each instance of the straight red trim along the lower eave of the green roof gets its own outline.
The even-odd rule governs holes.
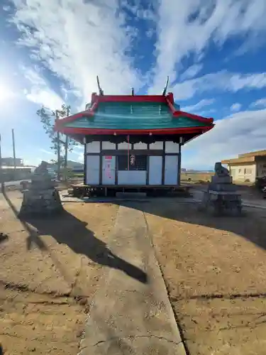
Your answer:
[[[84,136],[90,134],[101,134],[101,135],[109,135],[116,133],[119,134],[128,134],[128,135],[135,135],[135,134],[178,134],[178,133],[204,133],[212,129],[214,125],[205,126],[205,127],[184,127],[180,129],[82,129],[82,128],[72,128],[72,127],[62,127],[60,132],[65,134],[82,134]]]

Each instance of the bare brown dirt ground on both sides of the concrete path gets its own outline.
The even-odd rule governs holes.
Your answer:
[[[21,221],[20,192],[0,195],[0,342],[5,355],[78,353],[101,285],[116,204],[68,202],[54,221]],[[266,211],[215,218],[192,203],[145,212],[190,355],[264,355]]]

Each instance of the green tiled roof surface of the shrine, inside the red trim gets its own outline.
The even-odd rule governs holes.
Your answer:
[[[187,117],[173,117],[167,104],[101,102],[94,116],[81,117],[65,127],[87,129],[173,129],[206,126]]]

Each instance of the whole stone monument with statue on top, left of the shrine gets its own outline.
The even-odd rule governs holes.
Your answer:
[[[55,189],[55,182],[48,173],[48,163],[42,161],[33,173],[30,187],[23,192],[19,214],[21,216],[47,215],[61,211],[60,195]]]

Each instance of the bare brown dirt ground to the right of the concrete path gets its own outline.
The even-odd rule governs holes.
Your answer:
[[[266,213],[214,218],[142,204],[191,355],[266,354]]]

